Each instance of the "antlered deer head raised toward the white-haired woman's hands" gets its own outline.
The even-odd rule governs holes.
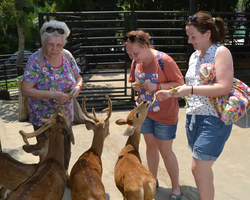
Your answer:
[[[41,121],[44,123],[44,125],[39,128],[38,130],[32,132],[32,133],[25,133],[24,131],[20,130],[19,133],[23,137],[23,141],[26,144],[29,144],[28,138],[36,137],[40,135],[41,133],[45,133],[47,137],[49,137],[49,134],[54,131],[59,131],[59,130],[54,130],[54,131],[48,131],[48,129],[53,128],[53,129],[61,129],[64,130],[62,131],[63,134],[69,134],[70,135],[70,140],[72,144],[75,144],[74,140],[74,135],[72,132],[71,124],[68,121],[68,119],[65,117],[63,114],[63,108],[61,106],[58,106],[56,109],[56,112],[50,116],[49,119],[41,119]],[[53,126],[57,124],[57,126]]]

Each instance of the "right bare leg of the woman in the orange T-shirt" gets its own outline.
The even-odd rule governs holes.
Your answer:
[[[172,150],[173,140],[157,139],[159,150],[164,161],[166,170],[172,183],[172,194],[179,195],[181,193],[179,184],[179,166],[177,158]]]

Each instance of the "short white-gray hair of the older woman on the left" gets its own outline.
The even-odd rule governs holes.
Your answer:
[[[47,33],[46,29],[48,27],[53,27],[55,29],[56,28],[61,28],[61,29],[64,30],[64,34],[61,35],[57,31],[52,32],[52,33]],[[61,22],[61,21],[57,21],[57,20],[50,20],[49,22],[45,22],[42,25],[42,28],[40,29],[40,35],[41,35],[42,45],[45,44],[47,38],[50,37],[50,36],[62,36],[64,38],[64,44],[63,44],[63,46],[64,46],[67,43],[66,38],[69,36],[69,34],[70,34],[70,30],[69,30],[69,27],[66,25],[66,23],[65,22]]]

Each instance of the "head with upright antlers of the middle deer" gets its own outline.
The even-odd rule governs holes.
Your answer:
[[[87,110],[86,110],[86,107],[85,107],[86,97],[84,97],[83,100],[82,100],[83,113],[85,114],[85,116],[87,118],[94,121],[94,122],[92,122],[92,121],[86,120],[85,121],[86,128],[88,130],[93,130],[94,133],[102,132],[102,133],[104,133],[104,137],[107,137],[109,135],[109,118],[110,118],[111,113],[112,113],[112,102],[111,102],[110,98],[107,95],[106,95],[106,98],[108,100],[108,108],[103,109],[102,112],[106,111],[107,112],[107,117],[103,121],[101,121],[101,120],[99,120],[97,118],[94,108],[92,108],[92,115],[93,116],[89,115]],[[99,131],[99,130],[101,130],[101,131]]]

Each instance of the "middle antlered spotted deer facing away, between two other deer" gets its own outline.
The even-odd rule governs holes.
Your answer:
[[[83,99],[83,112],[87,118],[94,122],[85,120],[88,130],[92,129],[94,137],[91,147],[84,152],[74,164],[70,172],[70,189],[72,200],[106,200],[105,189],[101,181],[102,161],[101,155],[105,138],[109,135],[109,118],[112,113],[112,102],[108,96],[107,117],[100,121],[92,108],[93,116],[90,116],[85,109],[85,98]]]

